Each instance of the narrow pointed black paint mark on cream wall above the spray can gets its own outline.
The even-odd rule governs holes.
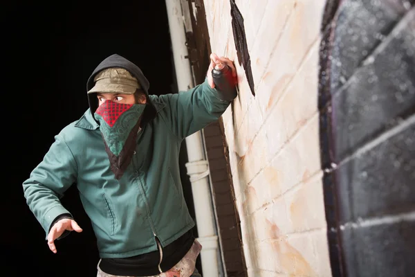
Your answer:
[[[246,43],[245,28],[243,27],[243,17],[234,0],[230,0],[230,15],[232,17],[232,32],[234,35],[235,47],[237,48],[239,65],[243,65],[250,90],[252,95],[255,96],[254,78],[252,77],[252,69],[250,66],[250,56],[248,44]]]

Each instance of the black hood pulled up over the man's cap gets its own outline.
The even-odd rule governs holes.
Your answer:
[[[86,91],[88,92],[90,89],[93,88],[95,85],[94,78],[97,73],[102,71],[103,69],[109,69],[110,67],[121,67],[122,69],[126,69],[133,75],[133,77],[137,78],[138,83],[140,83],[141,88],[145,92],[145,96],[147,98],[147,107],[145,108],[144,113],[142,114],[142,125],[149,122],[149,120],[153,119],[156,116],[156,108],[151,103],[149,98],[149,80],[145,78],[145,75],[142,73],[141,69],[133,64],[129,60],[120,55],[113,54],[107,58],[105,58],[98,66],[94,69],[91,76],[89,76],[88,82],[86,82]],[[98,98],[95,93],[88,94],[88,102],[89,108],[91,109],[91,114],[95,113],[95,110],[98,108]]]

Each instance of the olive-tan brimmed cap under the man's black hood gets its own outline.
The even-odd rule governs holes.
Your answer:
[[[122,93],[133,94],[140,84],[129,71],[119,67],[104,69],[95,78],[95,86],[88,93]]]

